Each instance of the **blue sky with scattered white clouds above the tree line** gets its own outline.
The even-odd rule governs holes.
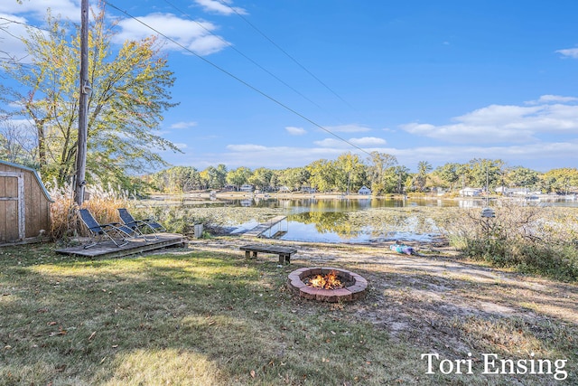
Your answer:
[[[119,41],[156,34],[147,24],[179,42],[164,48],[180,103],[160,132],[182,149],[163,154],[172,165],[378,151],[412,171],[472,158],[578,167],[576,1],[107,2]],[[47,7],[79,20],[79,0],[3,0],[0,21],[42,25]]]

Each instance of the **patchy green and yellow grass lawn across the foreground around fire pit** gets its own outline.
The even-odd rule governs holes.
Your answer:
[[[368,278],[368,297],[329,305],[303,301],[286,289],[287,274],[303,266],[297,259],[290,267],[276,268],[275,259],[246,260],[233,249],[191,248],[123,259],[70,258],[53,253],[51,245],[0,249],[0,385],[481,385],[578,380],[576,322],[556,317],[554,311],[547,314],[539,301],[527,300],[527,312],[539,316],[532,325],[516,316],[477,314],[450,313],[433,320],[435,310],[430,307],[443,303],[437,299],[416,305],[410,315],[422,315],[430,324],[427,330],[410,325],[416,330],[413,334],[392,334],[377,322],[386,315],[380,314],[384,310],[395,311],[385,304],[387,299],[415,301],[410,289],[447,287],[450,278],[416,272],[415,286],[410,286],[407,274],[382,270],[378,261],[350,263],[346,268]],[[394,285],[384,287],[386,281]],[[508,296],[506,287],[496,291]],[[463,278],[452,292],[462,298],[491,298],[484,288]],[[568,301],[575,305],[574,296],[569,293]],[[536,358],[567,359],[567,379],[555,381],[552,374],[481,374],[481,353],[529,359],[527,352],[514,352],[511,344],[532,349]],[[421,353],[466,360],[469,350],[472,374],[444,375],[437,368],[434,374],[425,373]]]

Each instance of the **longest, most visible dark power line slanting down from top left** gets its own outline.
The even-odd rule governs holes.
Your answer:
[[[201,61],[204,61],[205,63],[209,64],[210,66],[214,67],[215,69],[217,69],[217,70],[223,72],[224,74],[228,75],[229,77],[233,78],[234,80],[237,80],[239,83],[247,86],[247,88],[256,91],[257,93],[259,93],[259,94],[261,94],[262,96],[264,96],[266,99],[269,99],[269,100],[275,102],[277,105],[281,106],[282,108],[285,108],[286,110],[292,112],[292,113],[293,113],[294,115],[296,115],[297,117],[303,118],[303,119],[306,120],[307,122],[311,123],[313,126],[321,128],[321,129],[322,129],[323,131],[325,131],[326,133],[330,134],[330,135],[333,136],[333,137],[336,137],[336,138],[339,139],[340,141],[342,141],[342,142],[344,142],[344,143],[346,143],[346,144],[348,144],[348,145],[350,145],[350,146],[358,149],[359,151],[361,151],[361,152],[363,152],[363,153],[365,153],[365,154],[367,154],[367,155],[371,155],[371,154],[368,153],[368,151],[366,151],[365,149],[363,149],[363,148],[361,148],[361,147],[359,147],[359,146],[357,146],[357,145],[355,145],[355,144],[352,144],[352,143],[351,143],[350,141],[348,141],[347,139],[345,139],[345,138],[343,138],[343,137],[340,137],[340,136],[338,136],[337,134],[331,132],[331,130],[329,130],[328,128],[322,127],[322,125],[318,124],[317,122],[313,121],[313,120],[310,119],[310,118],[307,118],[307,117],[303,116],[303,114],[301,114],[300,112],[294,110],[294,108],[288,107],[288,106],[285,105],[283,102],[281,102],[281,101],[279,101],[279,100],[271,97],[270,95],[266,94],[266,92],[261,91],[260,89],[257,89],[255,86],[247,83],[247,81],[238,78],[237,75],[235,75],[235,74],[233,74],[233,73],[231,73],[231,72],[223,69],[222,67],[219,67],[219,65],[213,63],[212,61],[208,60],[207,58],[204,58],[204,57],[200,56],[197,52],[193,52],[191,49],[189,49],[188,47],[185,47],[185,46],[182,45],[180,42],[176,42],[176,41],[173,40],[171,37],[165,35],[164,33],[161,33],[160,31],[156,30],[156,29],[155,29],[154,27],[152,27],[151,25],[148,25],[148,24],[144,23],[142,20],[138,19],[137,17],[133,16],[132,14],[128,14],[126,11],[118,8],[117,5],[113,5],[112,3],[110,3],[110,2],[107,1],[107,0],[104,0],[104,3],[105,3],[106,5],[111,6],[112,8],[116,9],[118,12],[120,12],[120,13],[122,13],[122,14],[126,14],[127,17],[135,20],[135,22],[137,22],[137,23],[139,23],[139,24],[143,24],[143,25],[144,25],[146,28],[148,28],[149,30],[153,31],[154,33],[158,33],[160,36],[163,36],[163,38],[166,39],[167,41],[172,42],[172,43],[174,43],[175,45],[181,47],[181,48],[182,48],[183,50],[185,50],[186,52],[190,52],[191,54],[193,54],[194,56],[196,56],[197,58],[199,58]]]

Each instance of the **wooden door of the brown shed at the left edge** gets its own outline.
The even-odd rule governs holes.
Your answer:
[[[25,237],[24,175],[0,172],[0,243]]]

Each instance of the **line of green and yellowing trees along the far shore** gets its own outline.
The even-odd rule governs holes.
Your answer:
[[[436,167],[420,161],[417,172],[398,165],[395,155],[373,152],[367,159],[344,153],[335,160],[320,159],[303,167],[275,170],[245,166],[228,170],[226,165],[198,170],[193,166],[174,166],[147,174],[145,184],[163,193],[201,190],[239,190],[251,184],[261,192],[311,191],[357,193],[367,186],[373,194],[426,193],[438,189],[455,192],[464,187],[523,187],[532,192],[568,194],[578,192],[578,169],[559,168],[540,173],[524,166],[508,166],[500,159],[474,158],[466,164],[447,163]]]

